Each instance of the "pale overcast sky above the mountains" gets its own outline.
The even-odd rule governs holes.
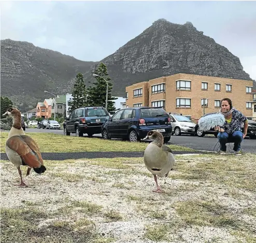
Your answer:
[[[112,54],[155,20],[190,21],[238,56],[256,80],[255,1],[8,1],[0,7],[1,39],[88,61]]]

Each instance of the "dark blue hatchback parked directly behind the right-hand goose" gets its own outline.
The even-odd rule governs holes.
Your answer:
[[[162,108],[134,107],[116,112],[102,126],[103,139],[128,139],[131,142],[144,139],[150,130],[163,134],[164,142],[170,140],[170,117]]]

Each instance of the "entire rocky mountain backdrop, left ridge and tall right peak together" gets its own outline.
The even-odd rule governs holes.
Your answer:
[[[179,72],[251,80],[238,57],[190,22],[157,20],[101,62],[107,65],[115,96],[124,96],[127,85]],[[72,90],[77,72],[84,74],[87,85],[93,81],[97,64],[28,42],[1,40],[1,93],[19,102],[24,96],[45,97],[45,89],[65,94]]]

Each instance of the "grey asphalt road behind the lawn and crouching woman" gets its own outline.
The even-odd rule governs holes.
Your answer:
[[[26,132],[53,132],[55,134],[63,134],[63,130],[49,130],[49,129],[33,129],[28,128]],[[75,136],[75,134],[71,134]],[[101,138],[101,134],[94,135],[97,138]],[[206,151],[214,151],[215,145],[218,143],[217,138],[215,136],[204,136],[200,138],[198,136],[191,135],[181,135],[175,136],[173,135],[170,140],[170,145],[176,144],[185,147],[189,147],[197,150],[206,150]],[[219,145],[217,144],[215,147],[215,151],[218,149]],[[227,144],[227,151],[231,151],[233,149],[233,144]],[[256,140],[246,138],[242,143],[242,151],[247,153],[256,153]]]

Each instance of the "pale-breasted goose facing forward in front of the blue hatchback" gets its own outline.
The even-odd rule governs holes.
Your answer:
[[[157,131],[149,131],[146,139],[154,140],[145,149],[144,162],[147,169],[154,175],[155,183],[157,184],[157,190],[153,192],[162,192],[158,185],[157,175],[160,177],[167,177],[169,171],[173,169],[175,158],[172,149],[163,145],[164,138],[162,133]]]

